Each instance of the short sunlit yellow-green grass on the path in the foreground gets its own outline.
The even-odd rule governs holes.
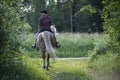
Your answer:
[[[88,58],[59,58],[55,63],[51,60],[49,70],[44,71],[50,80],[93,80],[87,66]]]

